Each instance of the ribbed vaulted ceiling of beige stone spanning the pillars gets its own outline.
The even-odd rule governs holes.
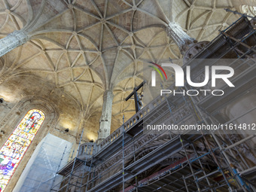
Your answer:
[[[133,100],[124,99],[142,82],[143,65],[181,58],[163,26],[175,21],[198,41],[211,41],[238,17],[224,8],[232,1],[0,0],[0,38],[18,29],[31,38],[3,57],[0,74],[32,75],[56,87],[77,103],[93,134],[102,93],[113,90],[113,131],[123,114],[127,120],[135,113]]]

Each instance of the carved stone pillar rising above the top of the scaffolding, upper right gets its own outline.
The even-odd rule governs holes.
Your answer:
[[[184,55],[191,45],[197,42],[194,38],[190,38],[190,36],[182,30],[181,26],[175,22],[169,23],[166,27],[166,32],[169,38],[172,38],[175,44],[178,45],[182,55]]]

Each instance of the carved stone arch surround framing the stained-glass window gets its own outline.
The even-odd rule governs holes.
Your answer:
[[[41,128],[38,130],[32,144],[26,151],[23,160],[21,160],[19,166],[14,172],[11,181],[9,181],[8,186],[5,189],[7,191],[11,191],[11,189],[17,183],[36,146],[39,142],[41,142],[42,139],[44,139],[44,136],[46,136],[50,130],[54,129],[59,119],[58,108],[56,108],[56,105],[51,103],[48,99],[41,98],[39,96],[26,96],[21,99],[20,102],[17,102],[14,108],[12,108],[11,111],[9,111],[8,114],[5,115],[5,118],[0,122],[0,130],[2,133],[4,133],[0,142],[1,146],[4,145],[6,139],[8,139],[8,136],[13,133],[18,123],[20,123],[23,117],[25,117],[26,113],[31,109],[39,109],[43,111],[45,120],[44,123],[42,123]]]

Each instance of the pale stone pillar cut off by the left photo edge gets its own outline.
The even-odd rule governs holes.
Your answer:
[[[3,56],[14,48],[25,44],[28,39],[28,35],[23,31],[14,31],[5,38],[0,39],[0,56]]]

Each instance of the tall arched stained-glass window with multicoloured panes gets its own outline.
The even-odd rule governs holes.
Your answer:
[[[43,121],[42,111],[30,110],[0,149],[0,192],[5,190]]]

